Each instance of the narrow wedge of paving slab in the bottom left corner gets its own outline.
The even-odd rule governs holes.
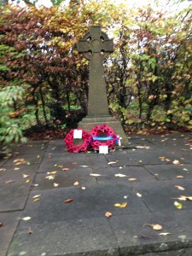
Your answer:
[[[0,213],[0,255],[6,255],[9,248],[9,243],[12,240],[16,226],[20,221],[21,212],[6,212]]]

